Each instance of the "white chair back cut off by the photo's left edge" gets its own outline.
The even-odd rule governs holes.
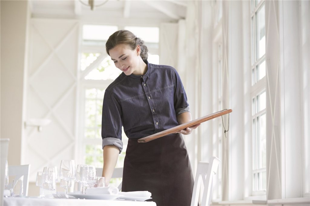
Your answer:
[[[5,176],[5,164],[7,162],[7,152],[9,151],[9,141],[10,139],[1,139],[0,148],[1,148],[1,161],[0,161],[0,205],[3,205],[3,191],[4,191],[4,176]]]

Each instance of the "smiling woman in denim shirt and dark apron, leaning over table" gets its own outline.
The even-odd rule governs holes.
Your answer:
[[[110,181],[122,151],[122,126],[128,145],[122,191],[150,191],[161,205],[190,205],[193,174],[181,134],[198,125],[147,143],[137,139],[191,121],[181,79],[173,67],[147,62],[144,41],[127,30],[113,33],[106,51],[122,74],[105,90],[102,108],[103,172]]]

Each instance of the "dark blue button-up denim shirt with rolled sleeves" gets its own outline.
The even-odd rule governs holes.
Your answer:
[[[122,151],[122,126],[129,139],[178,126],[176,116],[188,112],[188,102],[177,71],[145,62],[145,75],[119,75],[104,93],[102,148],[115,145]]]

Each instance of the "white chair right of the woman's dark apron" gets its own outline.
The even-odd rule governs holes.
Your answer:
[[[198,163],[191,206],[198,205],[201,182],[203,183],[204,186],[204,190],[202,192],[201,206],[210,205],[213,190],[213,176],[216,174],[219,163],[220,160],[216,157],[211,157],[209,163],[207,162]]]

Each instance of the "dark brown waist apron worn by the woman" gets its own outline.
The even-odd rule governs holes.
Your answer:
[[[157,206],[189,206],[193,173],[182,135],[147,143],[128,139],[122,191],[149,191]]]

